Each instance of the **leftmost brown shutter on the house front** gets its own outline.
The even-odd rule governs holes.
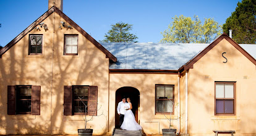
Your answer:
[[[15,115],[15,85],[7,86],[7,114]]]

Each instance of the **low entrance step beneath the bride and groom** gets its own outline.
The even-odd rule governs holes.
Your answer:
[[[145,134],[142,134],[141,130],[136,131],[129,131],[129,130],[120,130],[120,129],[114,129],[112,135],[114,136],[144,136]]]

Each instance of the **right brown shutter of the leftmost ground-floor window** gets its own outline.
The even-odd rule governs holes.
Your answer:
[[[32,115],[40,115],[40,93],[41,86],[33,85],[32,86]]]

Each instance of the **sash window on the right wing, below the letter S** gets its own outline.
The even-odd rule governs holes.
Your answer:
[[[215,115],[235,114],[235,83],[215,82]]]

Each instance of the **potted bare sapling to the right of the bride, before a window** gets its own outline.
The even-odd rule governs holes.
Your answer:
[[[168,98],[169,98],[169,96],[168,96]],[[171,101],[171,100],[169,100],[169,101]],[[171,101],[171,103],[172,103],[172,105],[174,105],[174,102],[173,102],[173,101]],[[176,106],[177,106],[178,104],[179,104],[179,103],[177,103]],[[168,106],[168,107],[171,107],[171,106]],[[164,105],[163,105],[163,109],[164,109]],[[176,109],[175,106],[174,106],[174,109]],[[166,117],[166,119],[168,119],[168,121],[169,121],[169,129],[162,129],[163,136],[175,136],[177,129],[172,129],[172,128],[171,128],[171,127],[172,127],[172,125],[171,125],[171,112],[170,112],[170,117],[169,117],[169,118],[166,116],[166,114],[164,114],[164,111],[163,111],[163,115],[164,115],[164,117]]]

